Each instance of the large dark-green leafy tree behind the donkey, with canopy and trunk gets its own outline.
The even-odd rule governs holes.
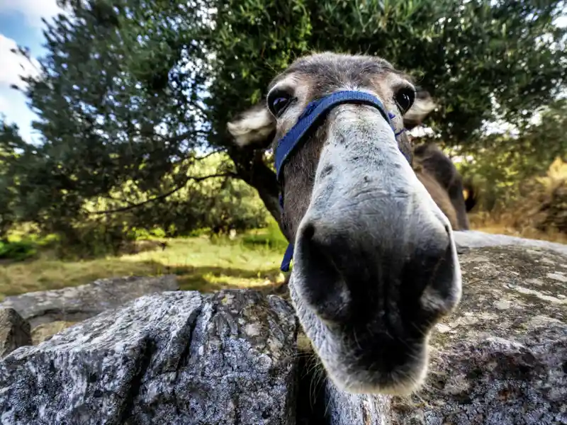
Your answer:
[[[566,31],[553,24],[565,1],[60,3],[71,17],[45,23],[43,77],[26,79],[43,144],[18,177],[20,196],[35,199],[29,216],[49,211],[59,225],[126,182],[149,198],[176,193],[207,149],[228,152],[223,172],[278,220],[266,154],[235,149],[225,128],[310,50],[381,55],[414,72],[440,105],[427,122],[439,140],[471,148],[493,101],[523,125],[566,81]]]

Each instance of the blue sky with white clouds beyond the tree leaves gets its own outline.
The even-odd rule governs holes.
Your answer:
[[[41,18],[51,21],[57,13],[62,13],[62,9],[56,0],[0,0],[0,115],[5,115],[9,123],[16,123],[28,142],[38,141],[37,132],[31,128],[37,116],[28,108],[26,96],[10,86],[21,86],[20,75],[38,71],[10,50],[21,45],[29,47],[34,58],[45,55]],[[566,25],[567,16],[561,21],[562,26]]]

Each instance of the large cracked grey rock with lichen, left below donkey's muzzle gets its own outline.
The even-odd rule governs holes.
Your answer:
[[[295,337],[279,297],[140,297],[1,361],[1,423],[293,424]]]

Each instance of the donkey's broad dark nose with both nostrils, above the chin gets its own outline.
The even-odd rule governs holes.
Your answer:
[[[399,198],[388,204],[393,212],[403,212],[408,202]],[[381,326],[395,333],[405,333],[404,321],[427,327],[454,303],[451,229],[442,216],[415,220],[419,215],[410,211],[391,220],[361,222],[365,206],[368,217],[381,216],[370,213],[378,203],[366,196],[357,208],[304,220],[296,242],[298,291],[330,324],[383,319]]]

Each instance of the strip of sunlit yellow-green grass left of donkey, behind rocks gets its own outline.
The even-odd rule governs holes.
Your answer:
[[[98,278],[156,276],[173,273],[181,289],[266,288],[283,281],[279,264],[283,251],[248,248],[241,238],[167,239],[168,246],[153,251],[89,261],[60,261],[49,252],[38,259],[5,263],[0,267],[0,297],[36,290],[82,285]]]

